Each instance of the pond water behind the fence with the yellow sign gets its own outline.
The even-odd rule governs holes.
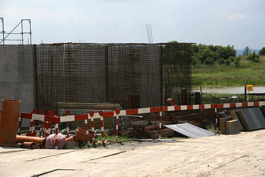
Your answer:
[[[244,94],[245,88],[242,87],[226,87],[226,86],[202,86],[203,93],[229,93],[229,94]],[[200,87],[193,87],[193,92],[200,92]],[[253,91],[247,91],[247,94],[265,93],[264,86],[253,86]]]

